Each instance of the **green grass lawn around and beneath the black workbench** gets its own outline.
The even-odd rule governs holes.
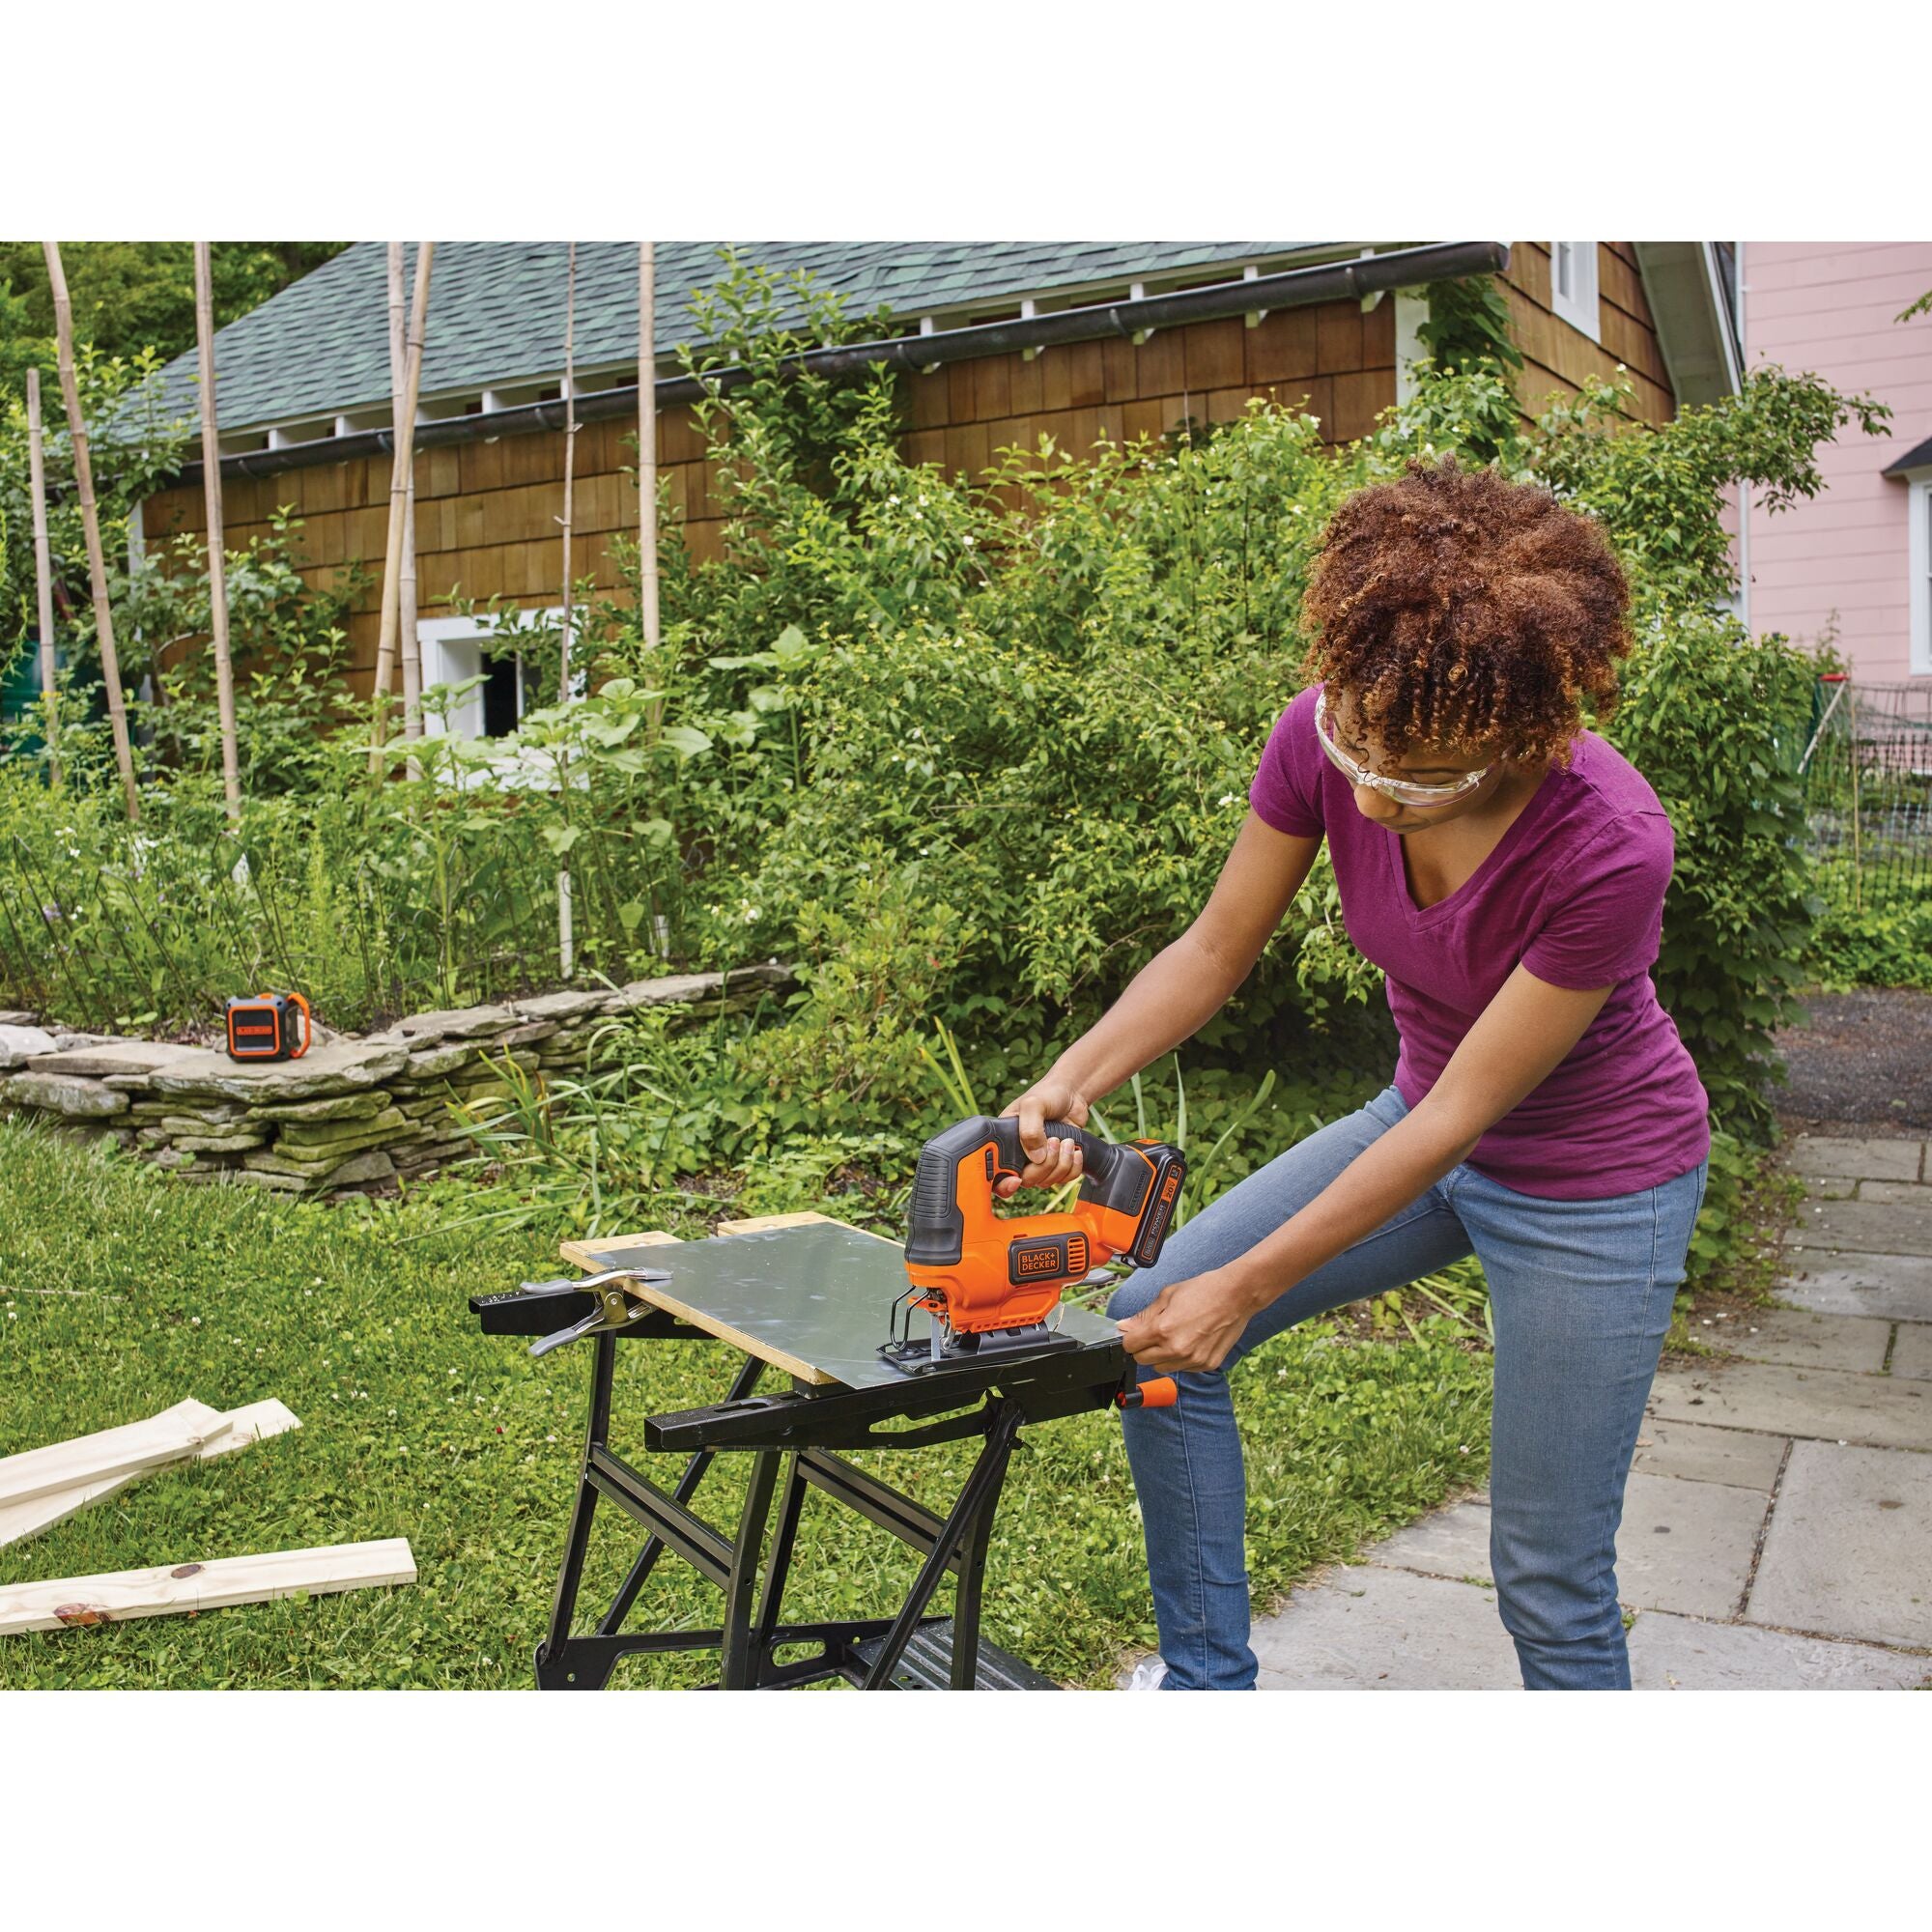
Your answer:
[[[348,1208],[191,1188],[0,1122],[0,1455],[189,1395],[218,1408],[274,1395],[301,1416],[292,1435],[139,1478],[0,1549],[0,1584],[383,1536],[408,1536],[419,1569],[408,1588],[0,1636],[0,1687],[529,1685],[589,1350],[531,1362],[520,1341],[477,1333],[466,1296],[554,1273],[554,1236],[450,1227],[450,1200],[446,1184],[433,1204]],[[641,1418],[717,1399],[736,1364],[705,1343],[636,1343],[618,1360],[614,1432],[641,1463]],[[1401,1345],[1308,1327],[1260,1349],[1235,1383],[1260,1604],[1482,1478],[1490,1364],[1449,1321]],[[945,1507],[970,1455],[964,1443],[858,1461]],[[726,1528],[742,1470],[721,1459],[699,1495]],[[585,1611],[634,1548],[601,1511]],[[879,1613],[912,1569],[883,1530],[813,1495],[786,1607]],[[1151,1644],[1113,1416],[1022,1439],[985,1617],[995,1642],[1068,1683],[1107,1683],[1124,1652]],[[636,1611],[639,1627],[715,1619],[717,1594],[670,1561]],[[614,1681],[699,1679],[690,1662],[632,1660]]]

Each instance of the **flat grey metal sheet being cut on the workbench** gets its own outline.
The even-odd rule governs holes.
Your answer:
[[[784,1227],[676,1246],[601,1250],[609,1267],[657,1267],[670,1279],[643,1298],[688,1312],[765,1360],[792,1356],[848,1389],[904,1383],[879,1358],[893,1304],[910,1287],[898,1246],[856,1227]],[[1119,1341],[1119,1327],[1084,1308],[1059,1308],[1059,1329],[1084,1343]],[[920,1318],[923,1320],[923,1318]],[[794,1370],[796,1372],[796,1370]]]

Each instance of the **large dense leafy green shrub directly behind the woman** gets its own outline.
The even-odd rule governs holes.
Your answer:
[[[755,612],[810,639],[782,680],[796,763],[767,757],[750,777],[769,800],[744,895],[761,951],[852,896],[883,848],[923,895],[943,958],[906,985],[993,1063],[1037,1065],[1204,902],[1300,680],[1300,595],[1327,514],[1410,456],[1493,452],[1592,510],[1631,572],[1640,645],[1609,730],[1679,835],[1658,983],[1716,1119],[1766,1130],[1772,1036],[1795,1010],[1810,916],[1791,773],[1812,667],[1718,614],[1723,493],[1743,477],[1772,508],[1812,495],[1816,444],[1882,410],[1768,369],[1656,429],[1629,419],[1627,379],[1526,429],[1503,375],[1464,355],[1463,373],[1424,369],[1339,452],[1312,419],[1254,404],[1177,446],[1072,460],[1047,444],[974,481],[900,460],[883,371],[837,415],[821,392],[794,400],[773,361],[784,346],[730,346],[759,379],[711,404],[711,454],[752,508],[680,593],[694,634]],[[1312,881],[1196,1053],[1279,1049],[1374,978],[1331,881]]]

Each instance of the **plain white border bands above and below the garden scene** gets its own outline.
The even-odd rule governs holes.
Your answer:
[[[1874,126],[1911,112],[1907,10],[1832,10],[1843,87],[1816,35],[1762,25],[1646,0],[1327,23],[593,0],[533,44],[527,10],[502,4],[41,8],[10,41],[0,222],[1918,232],[1917,176],[1866,166]],[[1897,1897],[1917,1920],[1928,1716],[1932,1700],[1851,1694],[15,1694],[4,1917],[1621,1932],[1888,1922]]]

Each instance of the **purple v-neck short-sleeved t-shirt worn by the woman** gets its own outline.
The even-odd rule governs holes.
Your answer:
[[[1316,692],[1281,713],[1248,798],[1275,831],[1327,835],[1343,923],[1387,976],[1403,1099],[1414,1107],[1430,1092],[1522,964],[1549,985],[1611,993],[1468,1165],[1546,1200],[1634,1194],[1696,1167],[1710,1151],[1704,1086],[1650,983],[1671,821],[1636,767],[1584,732],[1470,879],[1418,906],[1401,837],[1356,811],[1352,786],[1316,740]]]

